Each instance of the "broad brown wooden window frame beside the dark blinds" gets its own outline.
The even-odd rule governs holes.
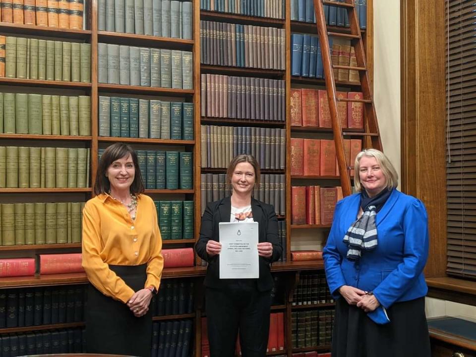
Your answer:
[[[445,276],[445,6],[401,0],[402,191],[423,201],[427,277]],[[390,69],[389,69],[390,70]]]

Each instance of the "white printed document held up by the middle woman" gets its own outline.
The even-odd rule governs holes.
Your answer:
[[[220,279],[259,278],[258,222],[219,224]]]

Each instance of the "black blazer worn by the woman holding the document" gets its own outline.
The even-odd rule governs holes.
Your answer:
[[[210,257],[206,251],[208,240],[220,241],[218,224],[230,222],[231,211],[232,204],[230,196],[228,196],[209,203],[202,216],[200,238],[195,244],[195,249],[198,256],[208,262],[204,285],[210,288],[223,288],[232,280],[220,279],[220,254]],[[280,258],[283,247],[278,236],[278,219],[274,207],[251,198],[251,211],[253,212],[253,221],[259,224],[258,241],[267,241],[273,244],[273,255],[270,258],[259,257],[259,278],[254,279],[257,281],[258,290],[263,292],[273,288],[269,264]]]

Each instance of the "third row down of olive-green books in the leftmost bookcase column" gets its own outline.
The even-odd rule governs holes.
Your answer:
[[[0,188],[84,188],[89,148],[0,146]]]

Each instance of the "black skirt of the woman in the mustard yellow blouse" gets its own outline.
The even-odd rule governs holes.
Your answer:
[[[110,265],[134,291],[144,288],[147,265]],[[152,311],[135,317],[126,304],[107,297],[92,284],[88,288],[86,309],[86,352],[150,357]]]

